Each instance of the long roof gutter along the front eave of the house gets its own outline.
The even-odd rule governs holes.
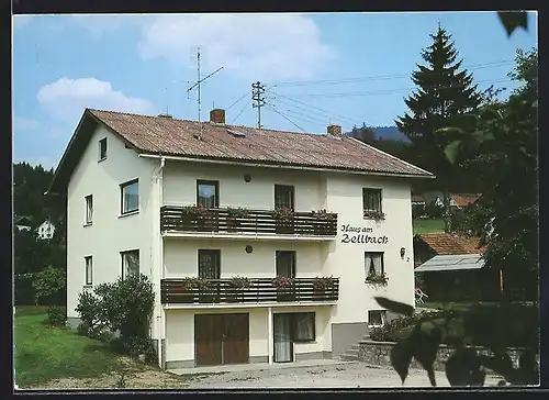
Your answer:
[[[240,167],[262,167],[262,168],[278,168],[278,169],[296,169],[296,170],[311,170],[311,171],[320,171],[320,173],[337,173],[337,174],[355,174],[355,175],[373,175],[373,176],[383,176],[383,177],[393,177],[393,178],[436,178],[434,175],[413,175],[413,174],[389,174],[389,173],[378,173],[378,171],[367,171],[367,170],[345,170],[345,169],[335,169],[335,168],[317,168],[317,167],[302,167],[302,166],[292,166],[292,165],[272,165],[272,164],[257,164],[257,163],[242,163],[242,162],[232,162],[232,160],[219,160],[219,159],[205,159],[205,158],[193,158],[193,157],[181,157],[181,156],[160,156],[156,154],[147,154],[141,153],[139,157],[145,158],[156,158],[156,159],[172,159],[178,162],[194,162],[194,163],[204,163],[204,164],[222,164],[222,165],[234,165]]]

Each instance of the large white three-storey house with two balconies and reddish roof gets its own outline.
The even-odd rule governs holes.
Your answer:
[[[69,323],[82,290],[145,274],[159,365],[182,368],[337,357],[388,316],[374,296],[413,305],[411,184],[433,175],[327,131],[87,109],[48,190],[67,197]]]

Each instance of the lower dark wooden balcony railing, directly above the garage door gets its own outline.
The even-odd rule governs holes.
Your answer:
[[[234,288],[231,279],[208,280],[202,289],[188,288],[186,279],[163,279],[160,293],[167,303],[266,303],[292,301],[337,301],[339,278],[330,278],[330,286],[317,289],[314,279],[296,278],[288,288],[272,286],[273,278],[250,279],[249,288]]]

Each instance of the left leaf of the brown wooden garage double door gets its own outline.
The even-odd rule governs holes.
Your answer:
[[[223,314],[194,315],[197,366],[222,364]]]

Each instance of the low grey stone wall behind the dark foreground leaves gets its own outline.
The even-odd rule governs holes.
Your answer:
[[[391,354],[391,348],[394,346],[394,342],[374,342],[374,341],[361,341],[359,343],[359,351],[358,351],[358,359],[360,362],[371,364],[371,365],[379,365],[379,366],[388,366],[391,367],[391,359],[390,359],[390,354]],[[480,354],[483,355],[491,355],[492,353],[483,347],[475,347]],[[513,360],[513,364],[515,367],[518,366],[518,357],[520,356],[522,349],[519,348],[508,348],[507,354],[509,355],[511,359]],[[437,358],[435,360],[435,370],[444,370],[445,369],[445,363],[450,357],[450,355],[453,353],[453,348],[449,347],[447,345],[440,345],[437,354]],[[422,369],[422,366],[415,360],[412,359],[412,364],[410,365],[410,368],[419,368]]]

